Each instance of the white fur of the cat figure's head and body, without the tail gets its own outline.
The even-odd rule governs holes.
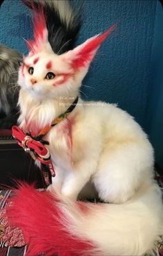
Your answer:
[[[19,71],[19,122],[24,130],[30,129],[37,135],[74,101],[88,70],[88,65],[76,70],[69,64],[78,49],[82,46],[61,56],[41,52],[24,60],[35,69],[32,75],[27,69],[24,76]],[[32,65],[35,58],[39,61]],[[50,60],[54,63],[50,70],[56,76],[45,80],[46,63]],[[63,73],[72,76],[64,84],[52,86],[62,79],[57,74]],[[31,78],[38,82],[32,85]],[[66,125],[68,121],[71,130]],[[102,200],[123,203],[135,194],[144,179],[153,178],[153,148],[146,134],[133,117],[115,105],[79,99],[68,119],[51,128],[44,139],[50,142],[56,169],[52,186],[69,198],[77,198],[84,185],[93,182]]]

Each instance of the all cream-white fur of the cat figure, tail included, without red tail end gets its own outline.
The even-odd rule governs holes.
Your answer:
[[[24,62],[34,67],[34,73],[28,74],[27,67],[24,74],[22,68],[19,71],[23,130],[37,135],[74,101],[98,47],[89,52],[82,67],[72,63],[94,39],[61,56],[46,47],[48,51],[26,57]],[[35,58],[39,60],[33,65]],[[49,61],[56,75],[52,80],[45,79]],[[57,85],[63,74],[70,76]],[[32,85],[31,78],[37,83]],[[153,148],[133,117],[115,105],[79,99],[68,118],[51,128],[44,139],[50,142],[56,170],[51,188],[70,199],[63,207],[66,219],[70,218],[66,227],[94,241],[103,255],[143,255],[151,250],[162,232],[162,203],[153,181]],[[90,197],[90,192],[95,196],[89,185],[95,186],[99,198],[114,204],[92,205],[86,215],[75,209],[71,199],[81,190],[84,197]]]

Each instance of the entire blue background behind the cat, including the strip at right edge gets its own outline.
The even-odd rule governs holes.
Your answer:
[[[82,97],[118,103],[148,133],[163,167],[163,10],[157,0],[87,0],[77,44],[117,23],[100,47],[82,87]],[[30,10],[6,0],[0,12],[0,42],[26,54],[32,37]]]

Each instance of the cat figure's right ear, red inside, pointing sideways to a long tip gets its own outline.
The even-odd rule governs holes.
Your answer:
[[[108,28],[105,33],[90,37],[88,40],[86,40],[86,42],[77,46],[75,49],[64,53],[62,55],[64,60],[70,63],[73,69],[89,67],[90,62],[93,60],[100,44],[102,44],[106,37],[110,35],[115,28],[116,25],[113,25]]]

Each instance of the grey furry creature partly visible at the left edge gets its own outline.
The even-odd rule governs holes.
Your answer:
[[[17,77],[21,62],[21,53],[0,44],[0,128],[11,128],[17,123]]]

